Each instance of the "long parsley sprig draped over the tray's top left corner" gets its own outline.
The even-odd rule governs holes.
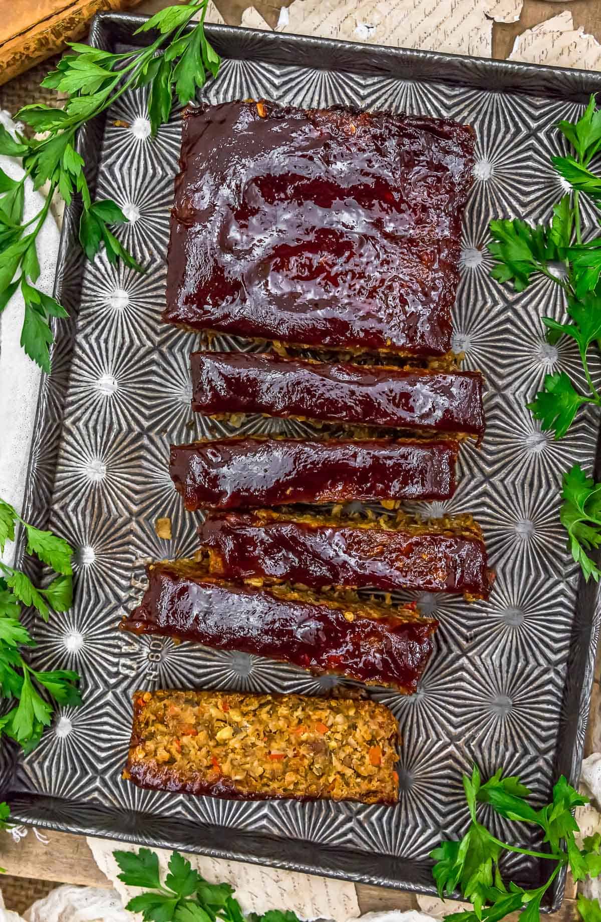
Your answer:
[[[196,15],[200,16],[198,23],[187,30]],[[20,180],[0,170],[0,313],[20,287],[25,301],[21,346],[44,372],[50,373],[51,318],[67,315],[61,304],[35,287],[40,278],[37,238],[54,193],[58,191],[67,205],[74,195],[81,196],[79,241],[88,259],[93,260],[104,246],[113,265],[122,260],[126,266],[142,271],[111,230],[127,220],[121,208],[110,199],[91,201],[85,164],[76,150],[77,131],[128,89],[149,85],[148,118],[152,134],[156,135],[159,124],[171,115],[173,91],[184,105],[194,98],[209,74],[217,75],[219,57],[206,41],[205,16],[206,0],[160,10],[138,30],[156,30],[157,38],[133,53],[113,54],[73,43],[71,53],[65,54],[41,84],[69,94],[65,109],[36,103],[17,113],[21,122],[44,136],[13,137],[0,125],[0,154],[20,159],[24,169]],[[49,188],[38,214],[24,222],[28,179],[34,189],[44,183]]]

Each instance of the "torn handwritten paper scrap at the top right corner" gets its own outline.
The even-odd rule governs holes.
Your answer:
[[[518,35],[510,61],[601,70],[601,44],[581,27],[574,29],[570,10],[539,22]]]

